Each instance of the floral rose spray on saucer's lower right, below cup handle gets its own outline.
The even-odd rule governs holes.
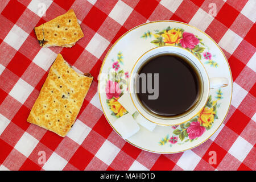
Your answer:
[[[173,144],[193,142],[193,140],[201,137],[212,127],[215,119],[218,119],[217,108],[220,107],[220,104],[217,104],[217,101],[223,98],[221,89],[218,89],[215,98],[217,100],[213,101],[212,96],[210,96],[204,109],[190,121],[182,123],[181,125],[172,126],[172,134],[162,138],[159,144],[164,145],[171,143],[170,146],[172,147]]]

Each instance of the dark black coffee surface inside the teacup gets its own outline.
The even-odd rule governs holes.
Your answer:
[[[198,100],[200,93],[199,76],[183,57],[160,55],[152,57],[138,72],[139,74],[159,73],[159,97],[148,100],[148,89],[142,93],[142,79],[139,81],[140,92],[137,96],[141,104],[151,113],[170,117],[188,111]],[[148,77],[147,77],[148,79]],[[153,81],[154,88],[154,81]]]

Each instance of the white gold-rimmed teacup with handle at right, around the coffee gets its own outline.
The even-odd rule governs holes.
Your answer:
[[[201,82],[200,96],[198,100],[195,102],[195,104],[191,107],[191,109],[179,115],[174,115],[172,117],[164,117],[164,116],[162,117],[160,115],[152,114],[150,111],[145,109],[145,107],[139,101],[139,98],[136,93],[136,88],[135,88],[136,87],[135,76],[137,75],[136,73],[139,72],[143,63],[145,63],[145,61],[147,61],[151,57],[161,55],[161,54],[166,54],[166,53],[177,54],[181,57],[184,57],[184,59],[186,59],[187,61],[189,61],[193,65],[193,67],[196,69],[197,75],[199,75],[200,82]],[[181,123],[189,121],[190,119],[195,117],[195,115],[199,114],[199,112],[207,104],[210,89],[220,88],[227,85],[228,85],[227,78],[209,78],[203,63],[201,63],[201,61],[195,55],[189,52],[187,49],[176,47],[176,46],[163,46],[163,47],[153,48],[150,51],[147,51],[146,53],[144,53],[141,57],[139,57],[139,59],[137,60],[137,62],[135,63],[131,71],[131,77],[129,80],[129,93],[134,106],[144,118],[158,125],[170,126],[170,125],[180,125]]]

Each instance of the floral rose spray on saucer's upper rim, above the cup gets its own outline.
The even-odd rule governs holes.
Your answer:
[[[151,31],[145,32],[141,38],[153,38],[151,41],[155,46],[178,46],[183,47],[196,55],[200,60],[205,60],[205,64],[209,64],[211,67],[217,68],[218,63],[212,58],[215,55],[212,55],[209,52],[209,48],[205,46],[203,40],[198,36],[192,34],[191,32],[184,31],[182,28],[171,28],[170,26],[164,30],[154,30],[154,33]]]

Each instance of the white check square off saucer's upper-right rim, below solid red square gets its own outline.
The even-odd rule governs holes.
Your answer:
[[[228,29],[224,36],[221,38],[218,45],[232,54],[243,39],[232,30]]]

